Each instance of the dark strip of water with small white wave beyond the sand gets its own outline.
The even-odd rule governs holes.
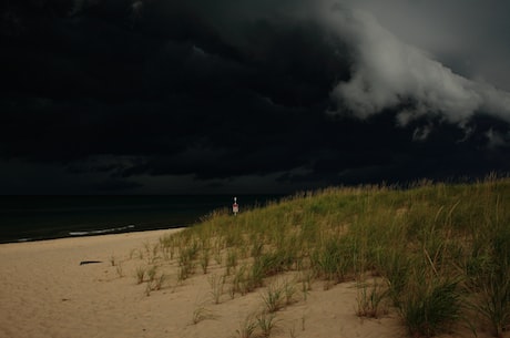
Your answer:
[[[237,196],[241,212],[277,195]],[[1,196],[0,243],[184,227],[232,196]]]

